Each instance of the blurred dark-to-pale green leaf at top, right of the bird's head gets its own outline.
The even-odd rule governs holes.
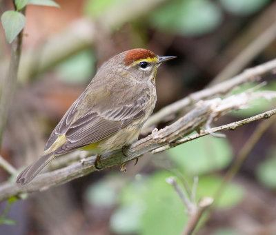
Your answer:
[[[208,0],[175,0],[150,12],[150,24],[160,30],[197,36],[221,23],[221,11]]]

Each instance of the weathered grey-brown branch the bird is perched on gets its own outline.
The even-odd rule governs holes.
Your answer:
[[[176,145],[181,144],[181,141],[178,141],[182,138],[181,136],[186,136],[194,130],[197,130],[198,127],[210,119],[210,116],[215,116],[216,118],[224,116],[231,110],[237,109],[238,107],[244,107],[244,105],[248,105],[250,101],[253,101],[261,96],[266,99],[271,99],[276,97],[276,92],[244,92],[242,94],[230,96],[226,99],[217,98],[209,101],[199,101],[195,109],[188,112],[185,116],[182,116],[179,120],[175,121],[175,123],[172,123],[164,129],[156,130],[152,132],[152,134],[146,136],[146,138],[133,143],[126,152],[127,156],[124,156],[121,150],[103,154],[98,166],[102,169],[113,167],[115,165],[120,165],[133,159],[137,159],[146,152],[154,152],[156,149],[158,149],[158,152],[161,152],[170,147],[175,147]],[[237,103],[237,101],[239,102]],[[235,129],[235,127],[244,125],[251,121],[268,119],[274,114],[276,114],[276,109],[253,116],[249,120],[245,119],[243,121],[239,121],[239,123],[237,122],[237,125],[233,124],[229,125],[227,128],[224,127],[224,130],[229,128]],[[223,130],[221,127],[216,128],[217,130],[203,130],[201,132],[209,134],[210,132]],[[90,172],[95,172],[97,171],[94,165],[95,159],[95,156],[90,156],[87,159],[73,163],[68,167],[40,174],[28,185],[21,186],[16,183],[5,183],[0,185],[0,201],[9,198],[10,196],[18,196],[23,192],[46,190],[49,187],[61,185],[68,181],[72,181],[74,178],[79,178],[90,174]]]

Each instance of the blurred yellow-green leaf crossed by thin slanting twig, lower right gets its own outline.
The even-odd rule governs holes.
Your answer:
[[[197,198],[203,196],[215,196],[219,186],[222,183],[222,178],[219,176],[201,176],[197,186]],[[221,194],[219,201],[215,201],[215,207],[228,209],[242,202],[244,198],[244,190],[235,184],[226,185],[224,192]]]

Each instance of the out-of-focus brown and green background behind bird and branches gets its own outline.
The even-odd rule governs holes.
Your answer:
[[[61,8],[28,5],[26,10],[18,88],[1,149],[17,169],[37,159],[63,114],[114,54],[147,48],[177,56],[159,68],[155,112],[276,54],[273,0],[56,2]],[[1,14],[12,9],[12,1],[0,1],[0,9]],[[0,77],[9,61],[10,45],[1,28]],[[264,80],[263,89],[276,89],[275,76]],[[213,125],[272,108],[275,103],[259,101]],[[276,234],[275,118],[269,122],[218,203],[202,218],[197,234]],[[166,178],[178,176],[180,185],[183,178],[192,185],[199,176],[197,198],[214,196],[261,123],[228,131],[227,139],[206,136],[161,154],[145,154],[137,165],[128,163],[126,173],[114,167],[25,200],[1,203],[1,214],[7,214],[0,234],[181,234],[186,208]],[[5,181],[14,178],[0,169],[0,182]]]

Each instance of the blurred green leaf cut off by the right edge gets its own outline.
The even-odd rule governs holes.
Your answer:
[[[257,167],[258,180],[271,189],[276,189],[276,147],[268,151],[268,157]]]

